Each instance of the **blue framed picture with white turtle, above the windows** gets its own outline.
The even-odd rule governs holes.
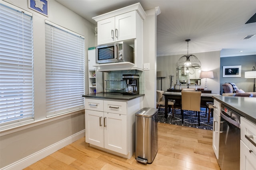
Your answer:
[[[28,0],[28,8],[48,17],[48,0]]]

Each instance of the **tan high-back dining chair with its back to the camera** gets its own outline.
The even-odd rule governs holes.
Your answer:
[[[200,126],[201,93],[200,91],[181,91],[182,123],[184,122],[184,110],[191,110],[198,113],[198,126]]]

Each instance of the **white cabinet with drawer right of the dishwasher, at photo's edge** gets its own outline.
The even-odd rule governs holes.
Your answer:
[[[256,124],[240,119],[240,170],[256,170]]]

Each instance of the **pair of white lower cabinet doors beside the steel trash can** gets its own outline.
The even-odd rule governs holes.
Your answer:
[[[86,142],[127,154],[126,115],[87,110]]]

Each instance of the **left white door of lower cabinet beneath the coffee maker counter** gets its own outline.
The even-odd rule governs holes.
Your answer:
[[[102,111],[85,110],[85,141],[104,148],[104,126]]]

